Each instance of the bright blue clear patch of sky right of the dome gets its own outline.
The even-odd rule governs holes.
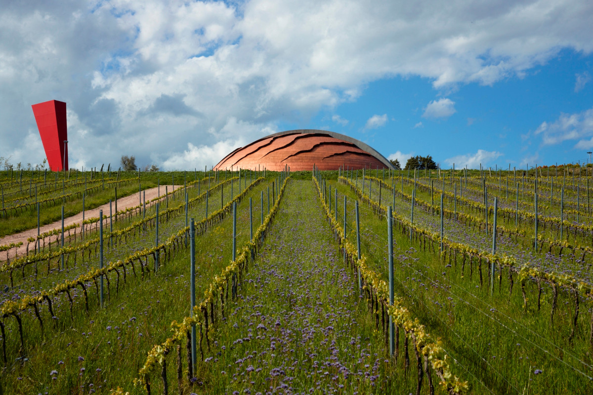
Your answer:
[[[384,78],[368,84],[355,102],[323,109],[308,122],[282,123],[280,129],[311,125],[330,129],[363,140],[385,156],[394,158],[397,151],[407,154],[397,155],[400,162],[410,154],[432,155],[444,168],[451,167],[451,159],[459,155],[475,156],[478,162],[470,165],[479,163],[479,149],[500,153],[484,158],[483,165],[492,167],[571,163],[588,160],[586,152],[593,144],[578,147],[575,139],[544,144],[541,133],[534,132],[543,122],[557,121],[562,113],[591,110],[593,84],[586,75],[593,75],[593,56],[562,50],[525,75],[487,86],[461,84],[443,92],[434,89],[428,78]],[[455,112],[424,117],[429,102],[442,98],[454,102]],[[365,128],[373,115],[385,114],[382,126]],[[339,118],[332,120],[336,115]]]

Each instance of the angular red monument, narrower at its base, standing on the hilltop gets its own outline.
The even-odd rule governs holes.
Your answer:
[[[33,114],[41,135],[47,163],[52,171],[68,170],[68,131],[66,130],[66,103],[58,100],[33,104]]]

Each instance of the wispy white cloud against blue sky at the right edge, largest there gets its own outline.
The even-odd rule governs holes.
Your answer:
[[[560,114],[552,123],[542,122],[534,131],[541,134],[544,145],[555,145],[566,140],[579,140],[576,148],[588,148],[587,138],[593,136],[593,108],[576,114]]]

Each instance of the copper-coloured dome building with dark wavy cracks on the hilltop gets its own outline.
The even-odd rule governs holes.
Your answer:
[[[394,169],[389,160],[367,144],[333,131],[301,129],[281,131],[235,149],[215,170],[264,169],[282,171]]]

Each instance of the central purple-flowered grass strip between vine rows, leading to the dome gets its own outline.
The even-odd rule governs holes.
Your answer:
[[[386,394],[415,390],[375,328],[311,181],[288,184],[238,301],[199,365],[205,394]],[[401,361],[403,365],[403,361]]]

